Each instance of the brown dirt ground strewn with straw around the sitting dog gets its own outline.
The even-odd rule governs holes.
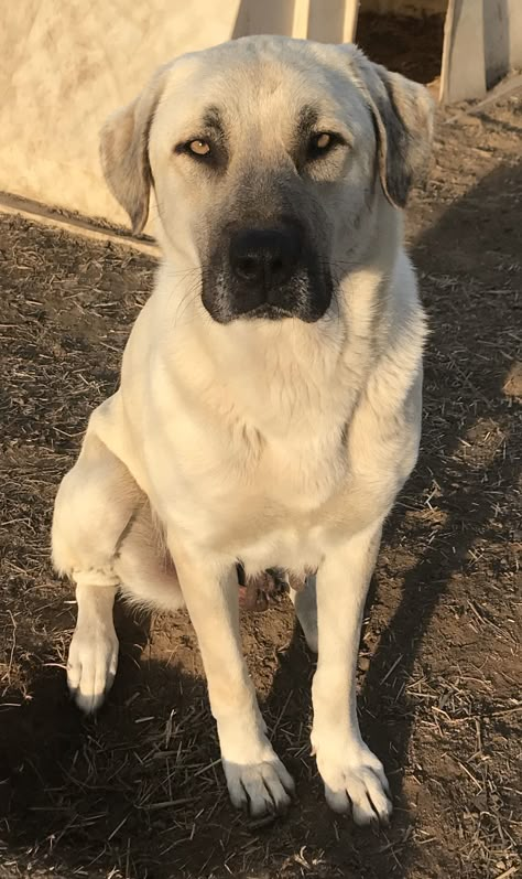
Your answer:
[[[286,600],[243,624],[297,782],[284,819],[257,826],[228,803],[184,614],[119,609],[107,706],[84,719],[69,701],[75,608],[50,567],[53,497],[117,386],[154,265],[0,215],[2,879],[519,875],[521,132],[515,98],[442,116],[431,182],[409,211],[432,332],[422,454],[385,529],[361,644],[361,725],[395,803],[378,833],[323,801],[314,661]]]

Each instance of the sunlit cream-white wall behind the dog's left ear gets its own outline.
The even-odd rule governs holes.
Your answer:
[[[228,40],[240,0],[8,0],[0,190],[127,224],[98,161],[106,117],[152,72]]]

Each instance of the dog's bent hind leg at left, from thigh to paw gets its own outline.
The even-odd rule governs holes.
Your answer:
[[[143,494],[124,464],[89,426],[76,464],[59,486],[53,517],[53,561],[76,583],[78,617],[67,680],[84,711],[95,711],[118,663],[112,607],[120,582],[119,543]]]

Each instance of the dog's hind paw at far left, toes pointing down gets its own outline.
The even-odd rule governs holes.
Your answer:
[[[67,684],[76,705],[97,711],[115,679],[118,639],[112,625],[76,628],[67,658]]]

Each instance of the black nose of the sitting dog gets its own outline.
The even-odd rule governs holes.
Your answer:
[[[239,281],[268,293],[292,277],[300,251],[297,229],[242,229],[230,242],[230,268]]]

